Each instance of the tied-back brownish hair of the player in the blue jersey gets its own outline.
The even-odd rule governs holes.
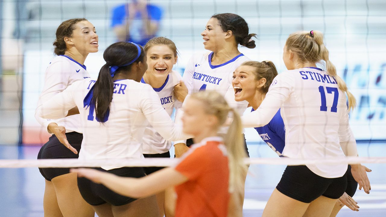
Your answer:
[[[255,71],[253,71],[256,80],[260,80],[262,78],[266,79],[266,83],[264,86],[261,87],[261,92],[267,93],[269,86],[271,86],[271,83],[273,79],[278,75],[278,70],[276,70],[275,64],[273,64],[272,61],[246,61],[242,63],[240,66],[252,66],[255,68]]]

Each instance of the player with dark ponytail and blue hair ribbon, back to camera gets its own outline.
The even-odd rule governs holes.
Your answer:
[[[189,138],[175,127],[151,86],[140,82],[147,70],[141,46],[117,42],[107,47],[103,58],[106,64],[97,81],[78,81],[37,110],[41,117],[60,118],[70,108],[79,108],[84,136],[79,159],[143,158],[142,138],[148,123],[167,140]],[[119,176],[145,176],[142,167],[97,169]],[[78,178],[78,188],[100,217],[158,216],[154,196],[124,197],[85,178]]]

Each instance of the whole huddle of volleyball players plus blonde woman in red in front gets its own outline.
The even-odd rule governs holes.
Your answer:
[[[59,25],[57,57],[35,114],[52,136],[38,159],[170,158],[173,144],[178,163],[39,168],[44,216],[242,216],[245,127],[280,157],[357,156],[348,116],[356,101],[328,59],[321,32],[289,35],[287,71],[280,74],[273,62],[240,53],[239,44],[256,47],[256,34],[239,15],[213,15],[201,36],[208,52],[193,55],[182,77],[173,70],[174,42],[154,37],[143,47],[108,46],[95,80],[84,65],[98,51],[95,27],[86,19]],[[361,164],[287,166],[262,215],[329,217],[343,205],[358,211],[352,196],[358,184],[369,193],[369,171]]]

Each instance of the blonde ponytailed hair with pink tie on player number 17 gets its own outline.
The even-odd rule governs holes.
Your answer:
[[[333,76],[337,81],[340,90],[347,93],[349,98],[349,110],[356,107],[354,95],[347,90],[347,85],[337,75],[337,70],[334,64],[328,58],[328,50],[323,43],[323,33],[320,31],[301,31],[289,35],[286,41],[287,50],[291,50],[298,55],[298,60],[301,63],[317,63],[321,60],[326,62],[326,70],[328,75]]]

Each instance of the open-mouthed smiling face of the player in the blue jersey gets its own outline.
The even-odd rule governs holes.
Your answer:
[[[253,66],[239,66],[233,73],[232,86],[235,90],[235,100],[252,102],[258,89],[261,86],[259,80],[256,80],[254,73],[256,69]]]

